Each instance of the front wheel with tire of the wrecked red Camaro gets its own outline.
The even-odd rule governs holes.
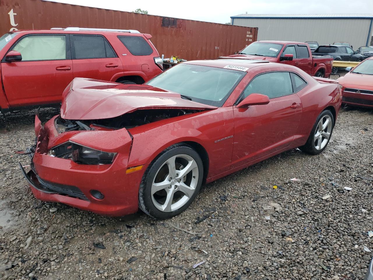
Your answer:
[[[165,149],[145,171],[139,189],[139,206],[145,214],[168,219],[183,212],[200,191],[201,157],[190,146]]]

